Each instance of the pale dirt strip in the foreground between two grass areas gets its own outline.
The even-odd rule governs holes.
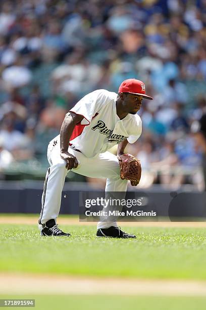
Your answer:
[[[1,294],[205,296],[206,282],[0,274]]]

